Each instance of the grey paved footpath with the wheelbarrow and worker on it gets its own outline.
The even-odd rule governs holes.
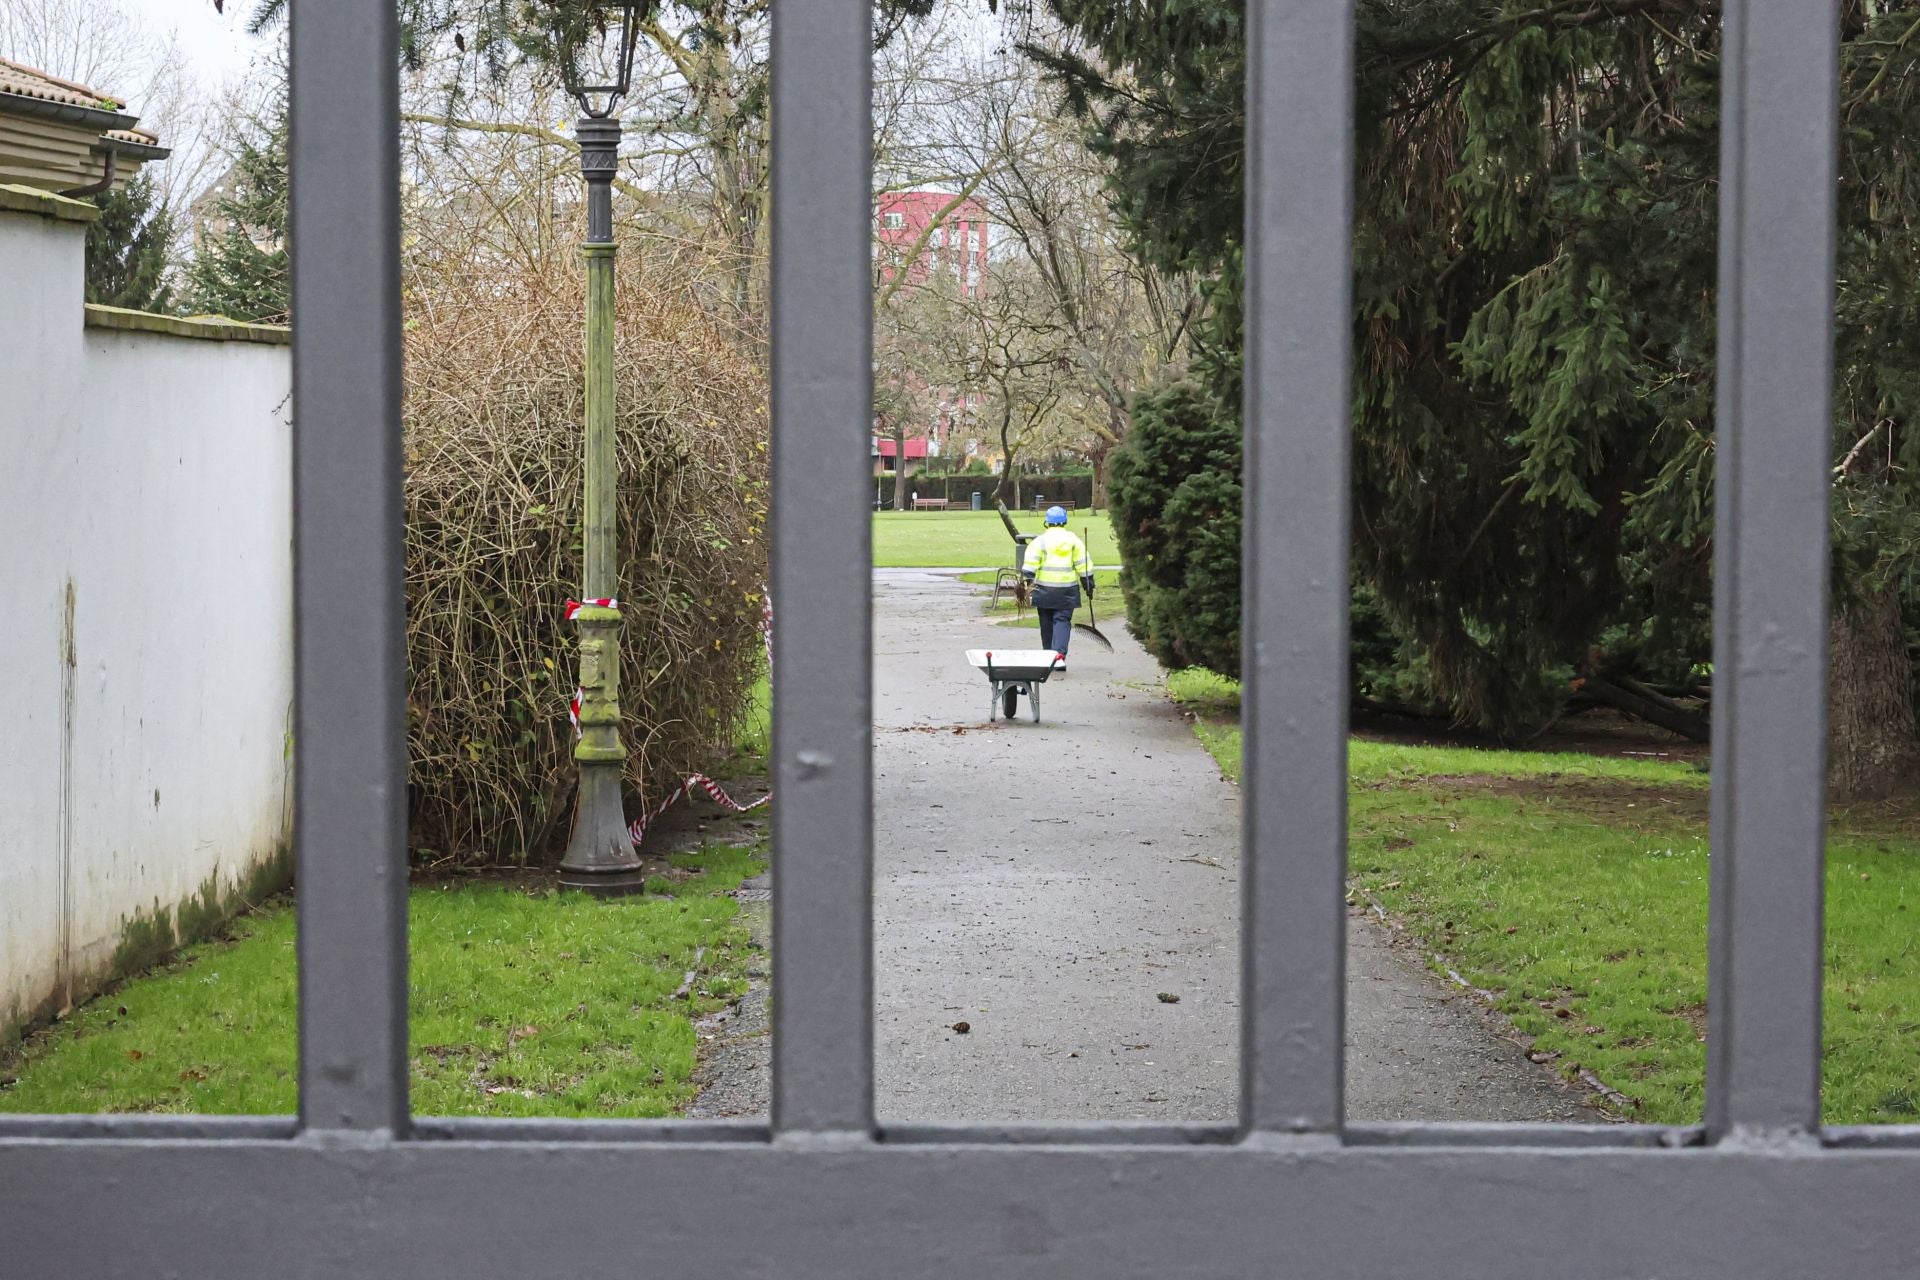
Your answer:
[[[987,723],[964,658],[1035,647],[1031,614],[939,570],[874,591],[879,1117],[1231,1121],[1238,793],[1117,601],[1117,652],[1077,637],[1035,725]],[[1371,919],[1348,936],[1352,1119],[1597,1119]]]

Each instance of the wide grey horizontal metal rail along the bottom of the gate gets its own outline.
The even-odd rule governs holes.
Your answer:
[[[1910,1280],[1914,1153],[0,1148],[33,1276]]]

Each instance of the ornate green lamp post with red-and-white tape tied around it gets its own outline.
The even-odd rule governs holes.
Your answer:
[[[612,177],[620,163],[620,121],[614,107],[632,84],[634,44],[641,4],[586,4],[557,31],[566,92],[580,102],[574,127],[580,173],[588,182],[588,238],[580,246],[588,271],[588,395],[586,395],[586,570],[574,612],[580,624],[580,791],[574,831],[561,860],[561,885],[597,894],[637,892],[639,856],[628,835],[620,781],[626,745],[620,741],[620,610],[593,604],[618,597],[618,510],[614,510],[614,378],[612,378]]]

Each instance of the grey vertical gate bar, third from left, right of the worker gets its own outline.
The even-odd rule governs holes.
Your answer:
[[[1248,4],[1242,1103],[1340,1126],[1350,0]]]

